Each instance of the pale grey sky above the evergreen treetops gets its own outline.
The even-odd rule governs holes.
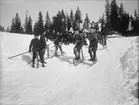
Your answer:
[[[138,12],[138,0],[116,0],[118,5],[122,2],[124,10],[130,14],[134,14],[136,9]],[[88,13],[91,21],[98,21],[99,17],[105,11],[105,0],[0,0],[0,24],[7,27],[11,25],[12,18],[18,12],[22,24],[25,21],[25,13],[31,15],[33,24],[37,20],[38,12],[42,11],[45,19],[46,11],[50,17],[57,14],[58,10],[64,9],[70,13],[73,9],[74,13],[77,6],[80,7],[82,18]]]

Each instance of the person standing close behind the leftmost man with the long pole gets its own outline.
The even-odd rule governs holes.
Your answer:
[[[46,44],[46,31],[44,31],[43,34],[40,35],[40,41],[42,43],[42,57],[44,59],[44,55],[45,55],[45,50],[47,48],[47,44]],[[45,61],[43,61],[44,63],[46,63]]]

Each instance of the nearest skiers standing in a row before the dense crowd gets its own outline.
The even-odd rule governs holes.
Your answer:
[[[89,32],[85,34],[83,30],[76,30],[74,33],[69,32],[69,35],[72,35],[72,39],[74,40],[75,47],[73,48],[75,60],[81,59],[81,49],[83,45],[85,45],[85,37],[89,40],[89,47],[88,47],[88,53],[90,55],[90,61],[96,62],[96,51],[98,48],[98,42],[99,42],[99,34],[97,30],[94,27],[90,27]],[[87,35],[87,36],[85,36]],[[45,67],[45,61],[44,61],[44,55],[45,55],[45,49],[47,48],[47,35],[46,31],[42,35],[34,35],[34,39],[31,40],[29,45],[29,52],[33,52],[32,56],[32,67],[35,67],[35,59],[39,55],[40,61],[42,63],[42,67]],[[40,38],[39,38],[40,36]],[[60,32],[56,32],[55,39],[53,40],[55,45],[55,56],[58,55],[58,49],[61,52],[61,55],[63,55],[65,52],[62,49],[62,43],[63,43],[63,36]]]

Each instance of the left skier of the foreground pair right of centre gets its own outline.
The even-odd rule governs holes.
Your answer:
[[[75,47],[74,47],[74,54],[75,54],[75,60],[80,60],[80,51],[84,45],[84,38],[83,38],[83,32],[75,31]]]

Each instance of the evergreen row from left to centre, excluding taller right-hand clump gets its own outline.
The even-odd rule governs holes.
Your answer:
[[[65,13],[65,11],[62,9],[61,11],[58,11],[56,16],[53,16],[52,19],[47,11],[45,20],[43,20],[42,12],[39,11],[38,19],[35,21],[33,26],[32,18],[31,16],[28,16],[28,12],[26,12],[25,23],[22,26],[19,14],[17,13],[15,18],[12,19],[10,32],[25,34],[42,34],[44,30],[49,30],[50,32],[53,30],[56,32],[64,32],[66,29],[69,30],[71,26],[73,26],[73,29],[75,30],[76,22],[82,22],[81,16],[82,14],[79,7],[77,7],[75,14],[73,13],[73,10],[71,10],[70,15]]]

